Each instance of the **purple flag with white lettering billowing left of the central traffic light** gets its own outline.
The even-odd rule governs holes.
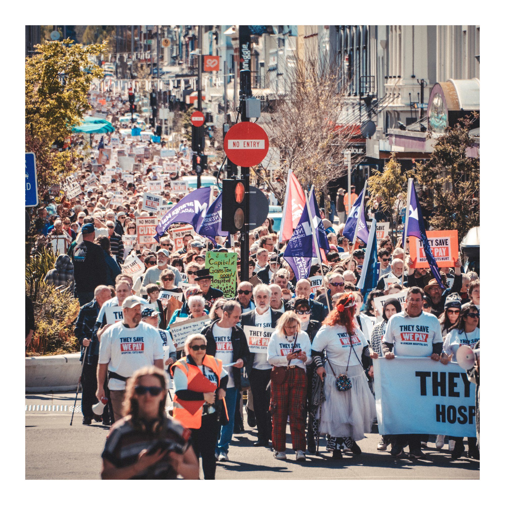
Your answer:
[[[197,230],[209,208],[211,200],[211,188],[199,188],[184,196],[178,204],[173,205],[170,210],[160,219],[156,227],[155,239],[159,242],[160,237],[174,223],[187,223]]]

